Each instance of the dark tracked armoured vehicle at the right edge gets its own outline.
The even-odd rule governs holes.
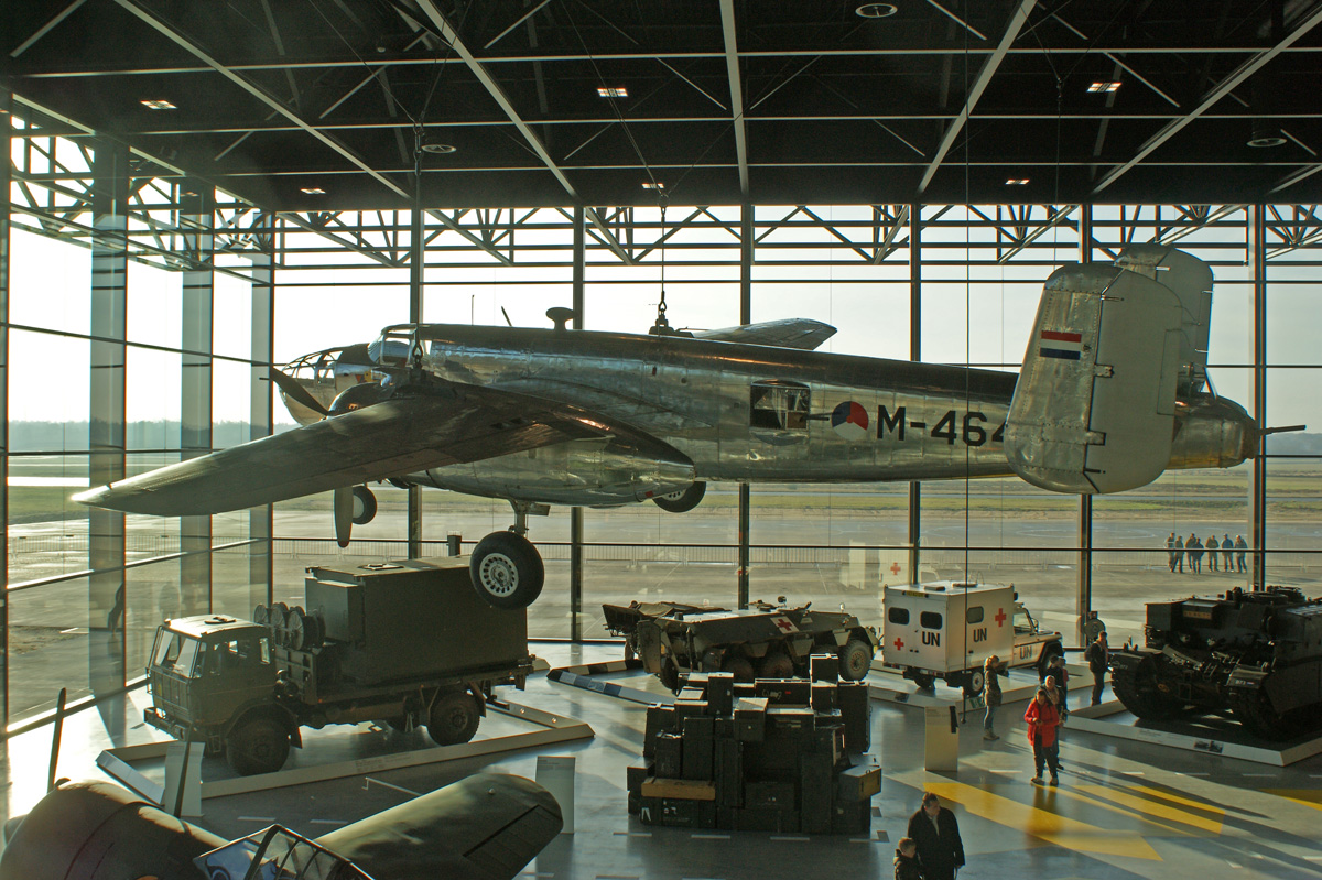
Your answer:
[[[1268,587],[1149,603],[1145,636],[1110,653],[1116,696],[1138,717],[1229,711],[1268,740],[1322,727],[1322,600]]]

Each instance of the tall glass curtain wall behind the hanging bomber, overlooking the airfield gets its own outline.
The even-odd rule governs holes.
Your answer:
[[[11,724],[48,710],[59,687],[77,698],[131,683],[163,617],[296,604],[308,566],[407,554],[407,492],[389,484],[373,486],[378,513],[346,548],[334,542],[329,497],[168,519],[98,518],[69,495],[107,466],[132,474],[292,427],[278,396],[272,404],[266,365],[407,322],[411,247],[407,211],[272,218],[127,170],[115,184],[95,144],[13,124]],[[119,193],[108,209],[103,189]],[[550,326],[546,309],[575,301],[574,218],[570,209],[428,211],[422,320]],[[1141,634],[1147,600],[1256,583],[1311,591],[1322,580],[1318,231],[1313,207],[1300,205],[596,209],[583,231],[582,320],[602,332],[642,333],[661,318],[707,329],[739,324],[747,308],[752,321],[838,328],[825,351],[1014,371],[1054,268],[1112,260],[1132,242],[1190,250],[1216,274],[1215,390],[1264,424],[1309,425],[1272,436],[1256,465],[1170,472],[1091,502],[1019,480],[750,493],[754,600],[843,604],[878,622],[883,583],[977,579],[1013,583],[1067,641],[1085,595],[1124,641]],[[122,284],[107,289],[107,276]],[[103,313],[107,301],[123,303],[119,324]],[[89,379],[107,366],[119,385]],[[107,433],[98,420],[118,407],[119,431]],[[500,501],[426,490],[422,503],[423,555],[446,554],[452,535],[469,550],[513,522]],[[576,621],[572,513],[529,521],[547,564],[534,636],[605,637],[603,603],[738,603],[739,486],[709,486],[686,514],[641,503],[580,515]],[[1235,552],[1220,550],[1215,571],[1171,571],[1171,534],[1228,536]]]

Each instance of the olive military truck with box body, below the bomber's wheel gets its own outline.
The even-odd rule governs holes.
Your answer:
[[[533,670],[525,609],[496,609],[460,560],[309,568],[305,608],[254,621],[204,614],[156,630],[149,725],[223,752],[239,774],[272,773],[301,727],[426,724],[440,745],[477,732],[492,688]]]

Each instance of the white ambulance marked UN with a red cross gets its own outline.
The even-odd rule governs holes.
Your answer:
[[[995,654],[1009,666],[1042,675],[1064,654],[1060,633],[1038,629],[1015,601],[1014,587],[937,580],[884,588],[882,662],[919,687],[936,679],[981,694],[982,663]]]

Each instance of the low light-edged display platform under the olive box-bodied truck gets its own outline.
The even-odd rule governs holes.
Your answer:
[[[202,762],[201,797],[206,799],[282,789],[305,782],[439,764],[595,736],[591,725],[584,721],[518,703],[488,703],[486,711],[488,716],[479,731],[480,739],[459,745],[415,748],[419,743],[418,737],[426,736],[422,731],[410,735],[382,735],[368,740],[370,733],[365,725],[332,725],[320,731],[304,729],[303,748],[291,749],[286,769],[276,773],[235,776],[223,758],[206,758]],[[483,732],[489,735],[483,736]],[[144,798],[160,803],[165,791],[164,758],[172,744],[173,740],[168,740],[106,749],[97,757],[97,764],[123,785]],[[201,748],[201,745],[198,744],[196,748]],[[342,756],[364,749],[375,753],[352,760],[333,760],[332,757],[324,764],[315,762],[317,756]],[[213,776],[212,780],[206,778],[209,774]]]

